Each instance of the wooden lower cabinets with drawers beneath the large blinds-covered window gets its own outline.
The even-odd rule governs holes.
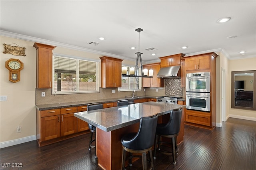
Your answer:
[[[87,125],[80,124],[79,131],[77,130],[77,118],[74,117],[74,113],[77,112],[77,107],[51,109],[44,111],[37,110],[36,112],[37,140],[39,146],[45,146],[86,133],[86,131],[83,130],[87,129],[83,126],[88,127],[87,123]],[[83,129],[81,130],[81,128]]]

